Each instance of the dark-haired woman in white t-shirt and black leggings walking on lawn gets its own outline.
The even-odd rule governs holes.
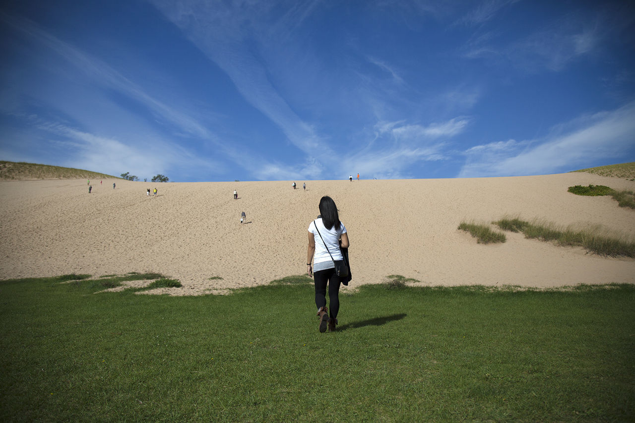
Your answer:
[[[335,201],[332,198],[324,196],[320,199],[319,213],[318,218],[309,224],[307,273],[309,276],[314,276],[319,332],[326,332],[327,325],[328,330],[333,332],[335,325],[337,325],[337,312],[340,309],[338,296],[340,293],[340,278],[335,273],[333,260],[344,260],[340,250],[339,239],[340,237],[342,238],[342,248],[349,248],[349,235],[344,224],[340,222],[337,206],[335,206]],[[333,256],[332,259],[331,256]],[[313,260],[313,269],[311,268],[311,260]],[[326,308],[327,283],[330,312]]]

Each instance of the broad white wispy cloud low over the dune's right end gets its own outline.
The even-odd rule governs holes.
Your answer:
[[[635,102],[554,127],[549,137],[476,145],[465,151],[458,177],[542,175],[619,160],[635,149]]]

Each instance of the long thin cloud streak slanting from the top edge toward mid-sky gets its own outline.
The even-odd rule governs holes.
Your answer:
[[[154,4],[227,73],[243,98],[269,117],[293,145],[307,154],[319,151],[324,158],[333,153],[313,126],[300,119],[274,88],[265,61],[250,47],[266,43],[274,29],[276,38],[284,39],[299,24],[298,20],[309,15],[315,2],[297,3],[281,19],[269,17],[275,5],[267,2],[236,1],[210,6],[203,1],[157,0]]]

